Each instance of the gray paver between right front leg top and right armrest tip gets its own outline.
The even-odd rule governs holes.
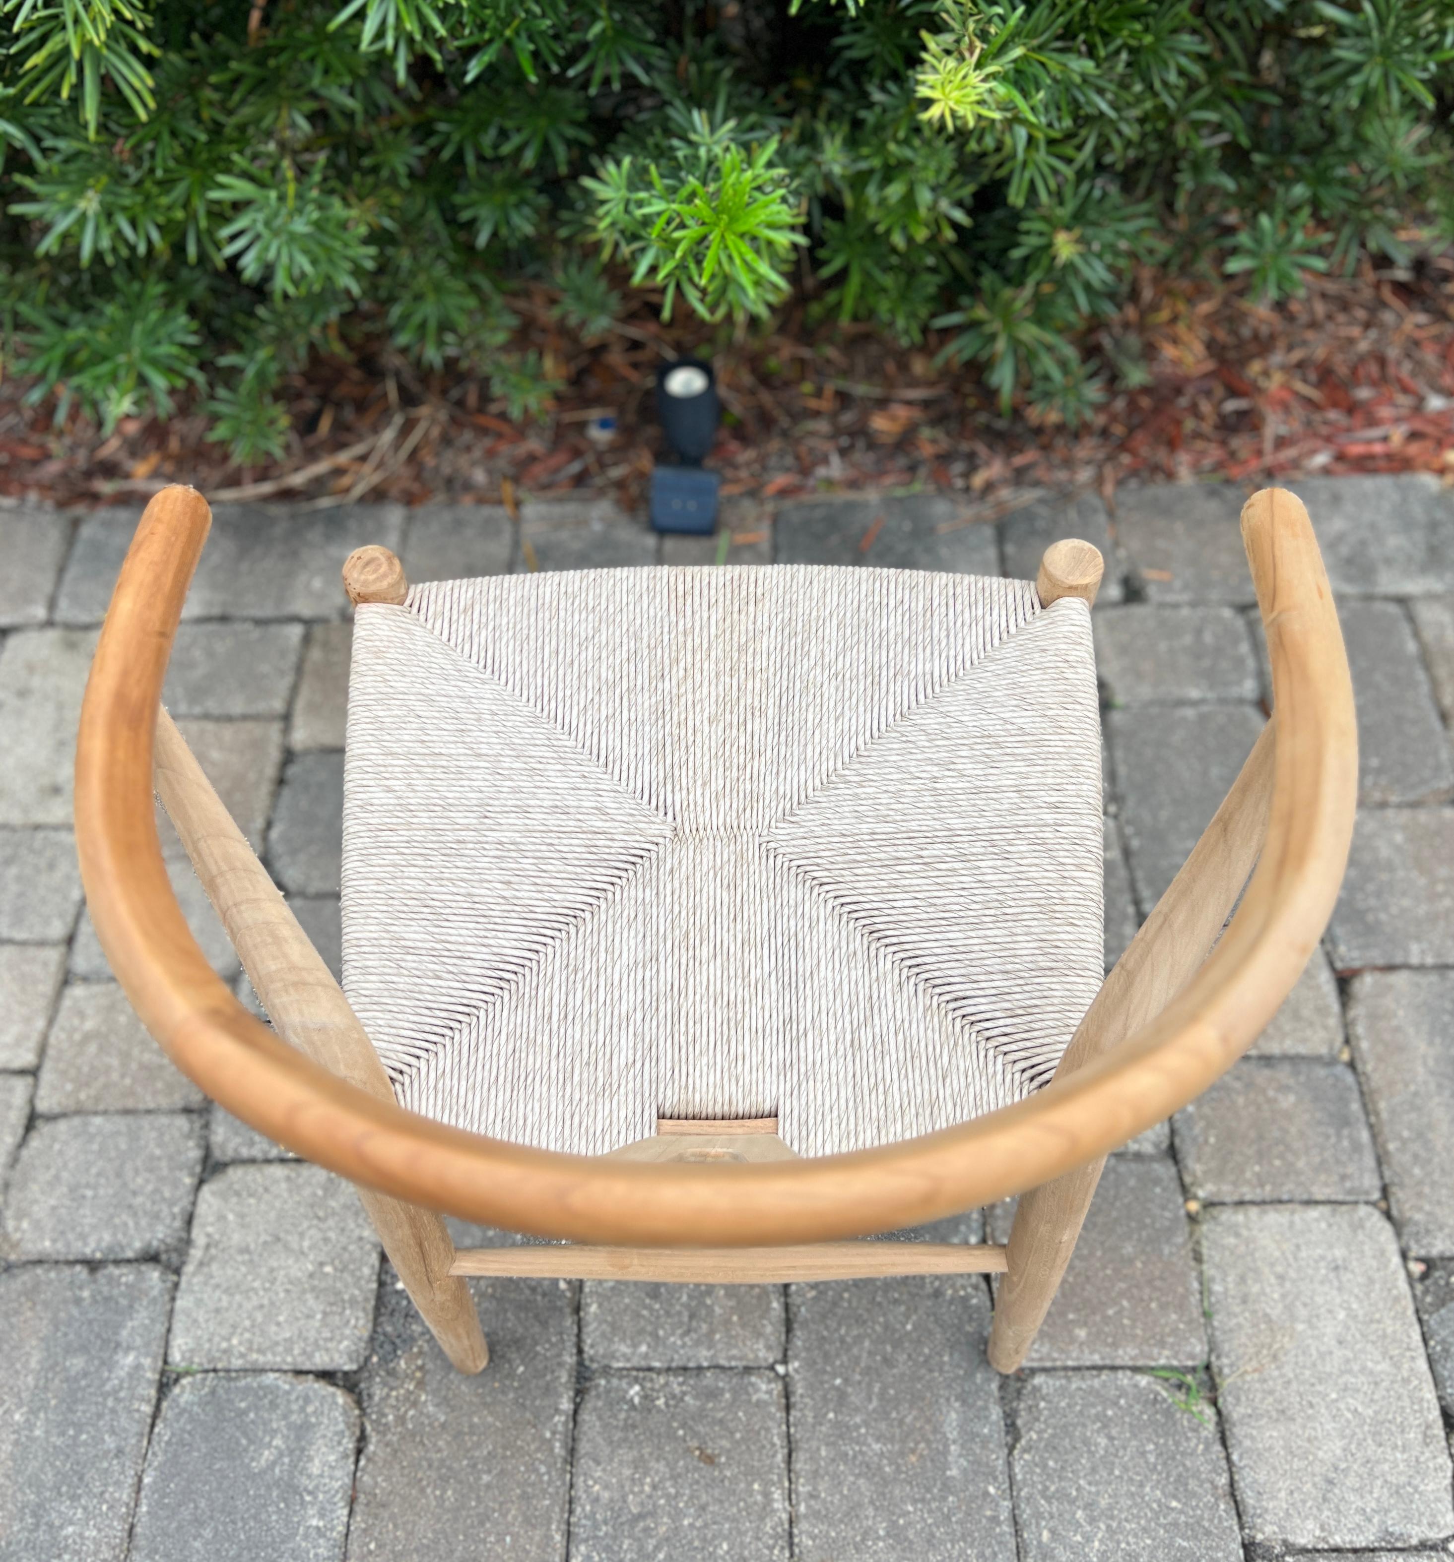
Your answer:
[[[1116,489],[1116,539],[1148,601],[1252,603],[1235,483],[1140,484]]]

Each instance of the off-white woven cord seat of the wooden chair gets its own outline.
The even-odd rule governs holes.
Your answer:
[[[413,586],[355,622],[344,989],[399,1101],[799,1154],[1044,1084],[1102,979],[1090,612],[910,570]]]

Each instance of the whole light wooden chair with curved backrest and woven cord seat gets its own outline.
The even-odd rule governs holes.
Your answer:
[[[341,990],[159,708],[210,520],[158,494],[111,600],[77,756],[91,912],[178,1067],[358,1186],[463,1371],[488,1359],[467,1275],[954,1271],[1001,1275],[1013,1371],[1105,1154],[1251,1045],[1332,911],[1352,692],[1291,494],[1243,511],[1276,711],[1104,982],[1088,544],[1035,584],[408,587],[361,548]],[[188,931],[153,790],[272,1028]],[[1012,1193],[1005,1246],[849,1240]],[[442,1214],[557,1240],[457,1251]]]

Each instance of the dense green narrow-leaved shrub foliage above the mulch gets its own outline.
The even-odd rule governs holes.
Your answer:
[[[905,344],[937,326],[1004,408],[1074,422],[1144,372],[1093,330],[1137,264],[1277,300],[1454,225],[1454,0],[0,17],[11,369],[106,428],[195,386],[239,461],[283,451],[280,381],[316,348],[386,339],[530,415],[549,378],[507,350],[527,278],[588,339],[627,280],[738,328],[804,289]]]

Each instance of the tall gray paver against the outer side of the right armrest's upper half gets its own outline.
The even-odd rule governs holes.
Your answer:
[[[1446,801],[1454,756],[1409,615],[1396,601],[1345,601],[1338,619],[1359,712],[1359,800]]]

